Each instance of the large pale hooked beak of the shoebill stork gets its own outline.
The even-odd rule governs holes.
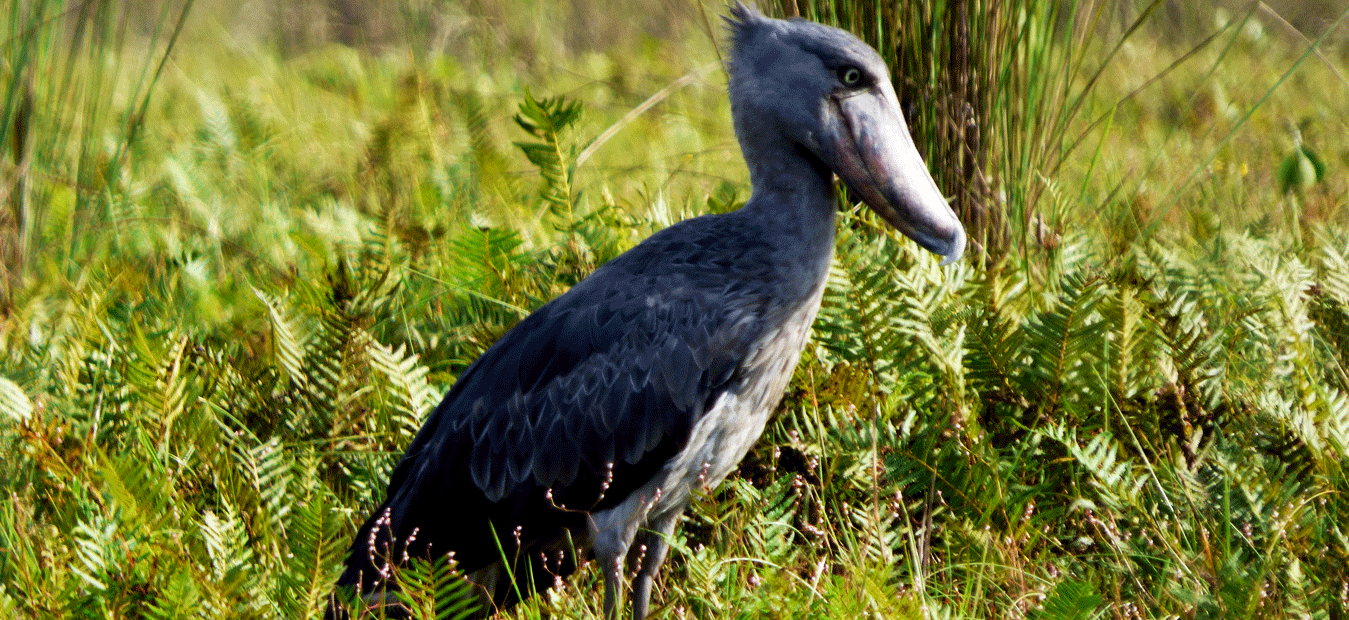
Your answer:
[[[889,82],[831,97],[834,171],[867,206],[924,248],[954,263],[965,252],[965,228],[947,205],[900,113]]]

